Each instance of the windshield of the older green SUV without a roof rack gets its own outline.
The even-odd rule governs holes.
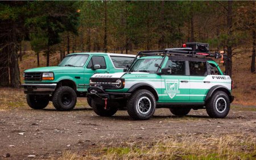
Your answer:
[[[86,54],[73,54],[71,56],[65,57],[58,66],[84,66],[89,55]]]

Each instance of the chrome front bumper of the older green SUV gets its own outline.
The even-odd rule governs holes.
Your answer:
[[[21,85],[25,94],[52,94],[56,86],[56,83],[25,83]]]

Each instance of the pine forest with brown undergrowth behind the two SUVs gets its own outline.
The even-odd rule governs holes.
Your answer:
[[[24,69],[57,65],[69,53],[135,54],[197,41],[224,50],[226,73],[251,94],[255,15],[255,1],[1,1],[0,86],[18,88]]]

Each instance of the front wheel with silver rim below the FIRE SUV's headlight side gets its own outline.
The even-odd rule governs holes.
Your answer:
[[[150,119],[155,107],[155,96],[148,90],[135,91],[127,101],[127,112],[135,120]]]

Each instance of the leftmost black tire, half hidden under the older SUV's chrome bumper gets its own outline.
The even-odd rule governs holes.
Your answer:
[[[49,103],[49,95],[31,95],[27,94],[27,104],[35,110],[46,108]]]

